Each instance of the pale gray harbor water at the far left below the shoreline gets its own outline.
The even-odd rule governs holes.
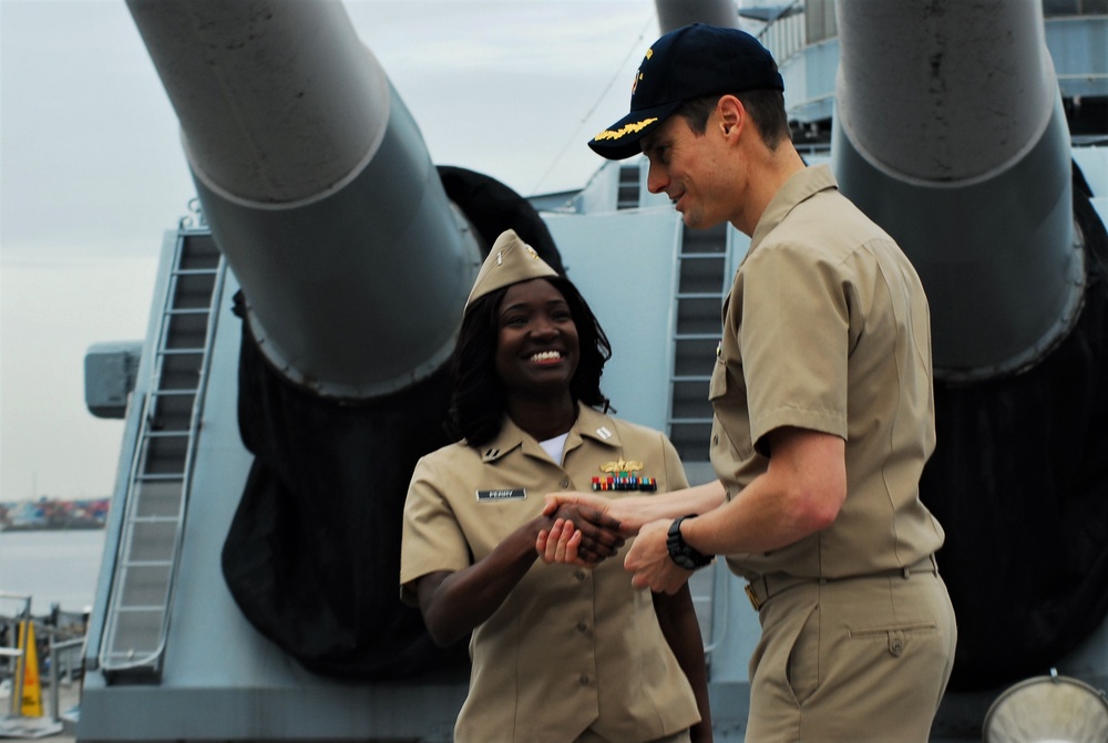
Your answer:
[[[0,591],[31,596],[31,613],[91,608],[104,551],[104,529],[0,532]],[[0,602],[0,615],[21,607]]]

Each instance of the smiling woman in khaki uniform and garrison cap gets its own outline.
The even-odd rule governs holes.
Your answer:
[[[711,740],[688,588],[634,590],[617,560],[594,570],[536,560],[535,539],[555,520],[542,514],[548,491],[609,477],[620,488],[602,491],[611,497],[687,486],[661,433],[594,409],[607,407],[607,357],[573,285],[504,233],[452,360],[462,438],[420,460],[404,506],[401,598],[440,644],[472,632],[461,743]],[[613,534],[581,550],[596,561],[619,546]]]

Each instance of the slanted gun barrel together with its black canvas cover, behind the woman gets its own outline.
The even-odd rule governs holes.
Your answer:
[[[488,246],[514,227],[560,267],[553,240],[506,187],[435,168],[337,0],[127,4],[242,287],[255,458],[223,547],[232,595],[312,670],[435,665],[396,586],[408,479],[448,443],[444,362]]]

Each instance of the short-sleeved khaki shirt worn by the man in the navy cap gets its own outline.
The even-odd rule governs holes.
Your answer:
[[[931,326],[915,269],[838,192],[828,166],[793,175],[758,223],[724,305],[710,393],[711,462],[728,497],[766,471],[781,426],[845,440],[847,501],[830,527],[759,555],[747,578],[841,578],[911,566],[942,546],[920,501],[935,447]]]

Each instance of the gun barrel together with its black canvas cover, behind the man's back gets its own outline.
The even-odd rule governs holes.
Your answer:
[[[1108,451],[1108,240],[1071,159],[1043,6],[835,10],[832,167],[931,305],[938,445],[922,497],[947,535],[952,684],[1043,672],[1108,612],[1094,463]]]

